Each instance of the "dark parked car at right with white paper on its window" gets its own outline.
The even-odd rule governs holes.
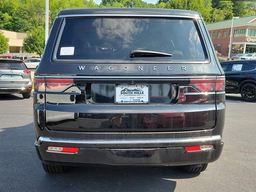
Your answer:
[[[226,75],[226,93],[241,94],[246,101],[256,99],[256,60],[220,63]]]

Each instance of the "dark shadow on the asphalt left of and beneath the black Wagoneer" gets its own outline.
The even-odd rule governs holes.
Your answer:
[[[36,155],[33,123],[0,129],[2,191],[170,191],[177,179],[200,174],[177,167],[71,167],[65,174],[46,174]]]

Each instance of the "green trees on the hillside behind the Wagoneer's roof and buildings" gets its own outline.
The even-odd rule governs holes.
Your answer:
[[[199,11],[206,23],[230,19],[233,16],[256,14],[256,2],[219,0],[158,0],[156,4],[143,0],[50,0],[50,27],[58,12],[66,8],[95,7],[171,8]],[[36,26],[44,26],[45,0],[0,0],[0,28],[26,32]]]

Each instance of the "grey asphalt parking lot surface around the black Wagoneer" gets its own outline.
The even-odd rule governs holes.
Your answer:
[[[200,174],[176,167],[75,167],[46,174],[34,149],[32,97],[0,97],[0,191],[172,192],[256,189],[256,102],[226,96],[224,149]]]

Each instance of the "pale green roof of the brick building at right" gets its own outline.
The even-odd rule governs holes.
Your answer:
[[[242,25],[242,24],[245,25],[246,23],[250,23],[255,19],[256,19],[256,15],[240,17],[239,19],[234,19],[233,26]],[[232,19],[228,19],[224,21],[210,23],[210,24],[207,24],[206,26],[208,30],[210,30],[215,28],[228,28],[228,27],[231,27],[231,25],[232,25]]]

